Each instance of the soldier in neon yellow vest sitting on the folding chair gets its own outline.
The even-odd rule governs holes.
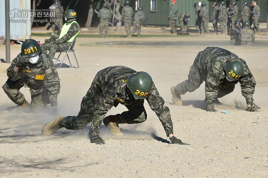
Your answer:
[[[47,53],[53,59],[57,51],[68,50],[74,38],[80,31],[80,26],[76,21],[76,12],[72,9],[65,12],[66,23],[62,26],[61,30],[52,35],[45,43],[41,45],[42,51]],[[57,40],[58,39],[58,40]]]

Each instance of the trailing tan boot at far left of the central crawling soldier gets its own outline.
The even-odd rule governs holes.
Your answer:
[[[42,135],[51,135],[52,133],[56,132],[60,128],[63,127],[61,125],[61,120],[64,118],[64,116],[58,116],[53,121],[47,123],[44,125],[42,129]]]

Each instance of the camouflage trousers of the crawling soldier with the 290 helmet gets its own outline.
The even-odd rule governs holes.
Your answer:
[[[95,90],[95,89],[93,89]],[[95,104],[98,98],[95,98],[92,89],[90,88],[87,94],[83,97],[81,108],[77,116],[66,116],[62,119],[62,125],[69,130],[81,130],[92,122]],[[119,114],[121,123],[136,124],[146,121],[147,114],[144,105],[132,107],[125,105],[129,111],[124,111]],[[103,118],[100,118],[103,120]],[[96,130],[99,133],[99,129]],[[92,131],[92,136],[96,136]]]

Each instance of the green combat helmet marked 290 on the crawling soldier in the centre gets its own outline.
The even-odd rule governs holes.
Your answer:
[[[147,98],[152,90],[152,86],[152,77],[146,72],[133,73],[127,79],[127,88],[138,99]]]

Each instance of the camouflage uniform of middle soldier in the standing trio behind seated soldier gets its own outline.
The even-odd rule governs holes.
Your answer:
[[[134,15],[132,7],[126,5],[122,10],[121,21],[124,21],[124,26],[127,32],[127,35],[131,34],[131,24],[132,24],[132,17]]]

